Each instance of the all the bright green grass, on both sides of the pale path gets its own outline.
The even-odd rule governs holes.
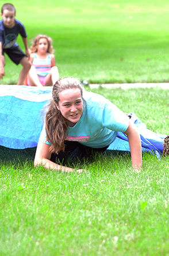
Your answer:
[[[39,33],[53,38],[60,77],[168,81],[167,0],[12,3],[29,45]],[[23,47],[21,38],[18,43]],[[20,69],[6,58],[1,84],[16,84]],[[169,90],[92,91],[135,112],[151,131],[168,134]],[[169,158],[143,154],[140,173],[129,155],[67,162],[87,170],[78,174],[34,168],[35,151],[0,146],[0,256],[169,256]]]

